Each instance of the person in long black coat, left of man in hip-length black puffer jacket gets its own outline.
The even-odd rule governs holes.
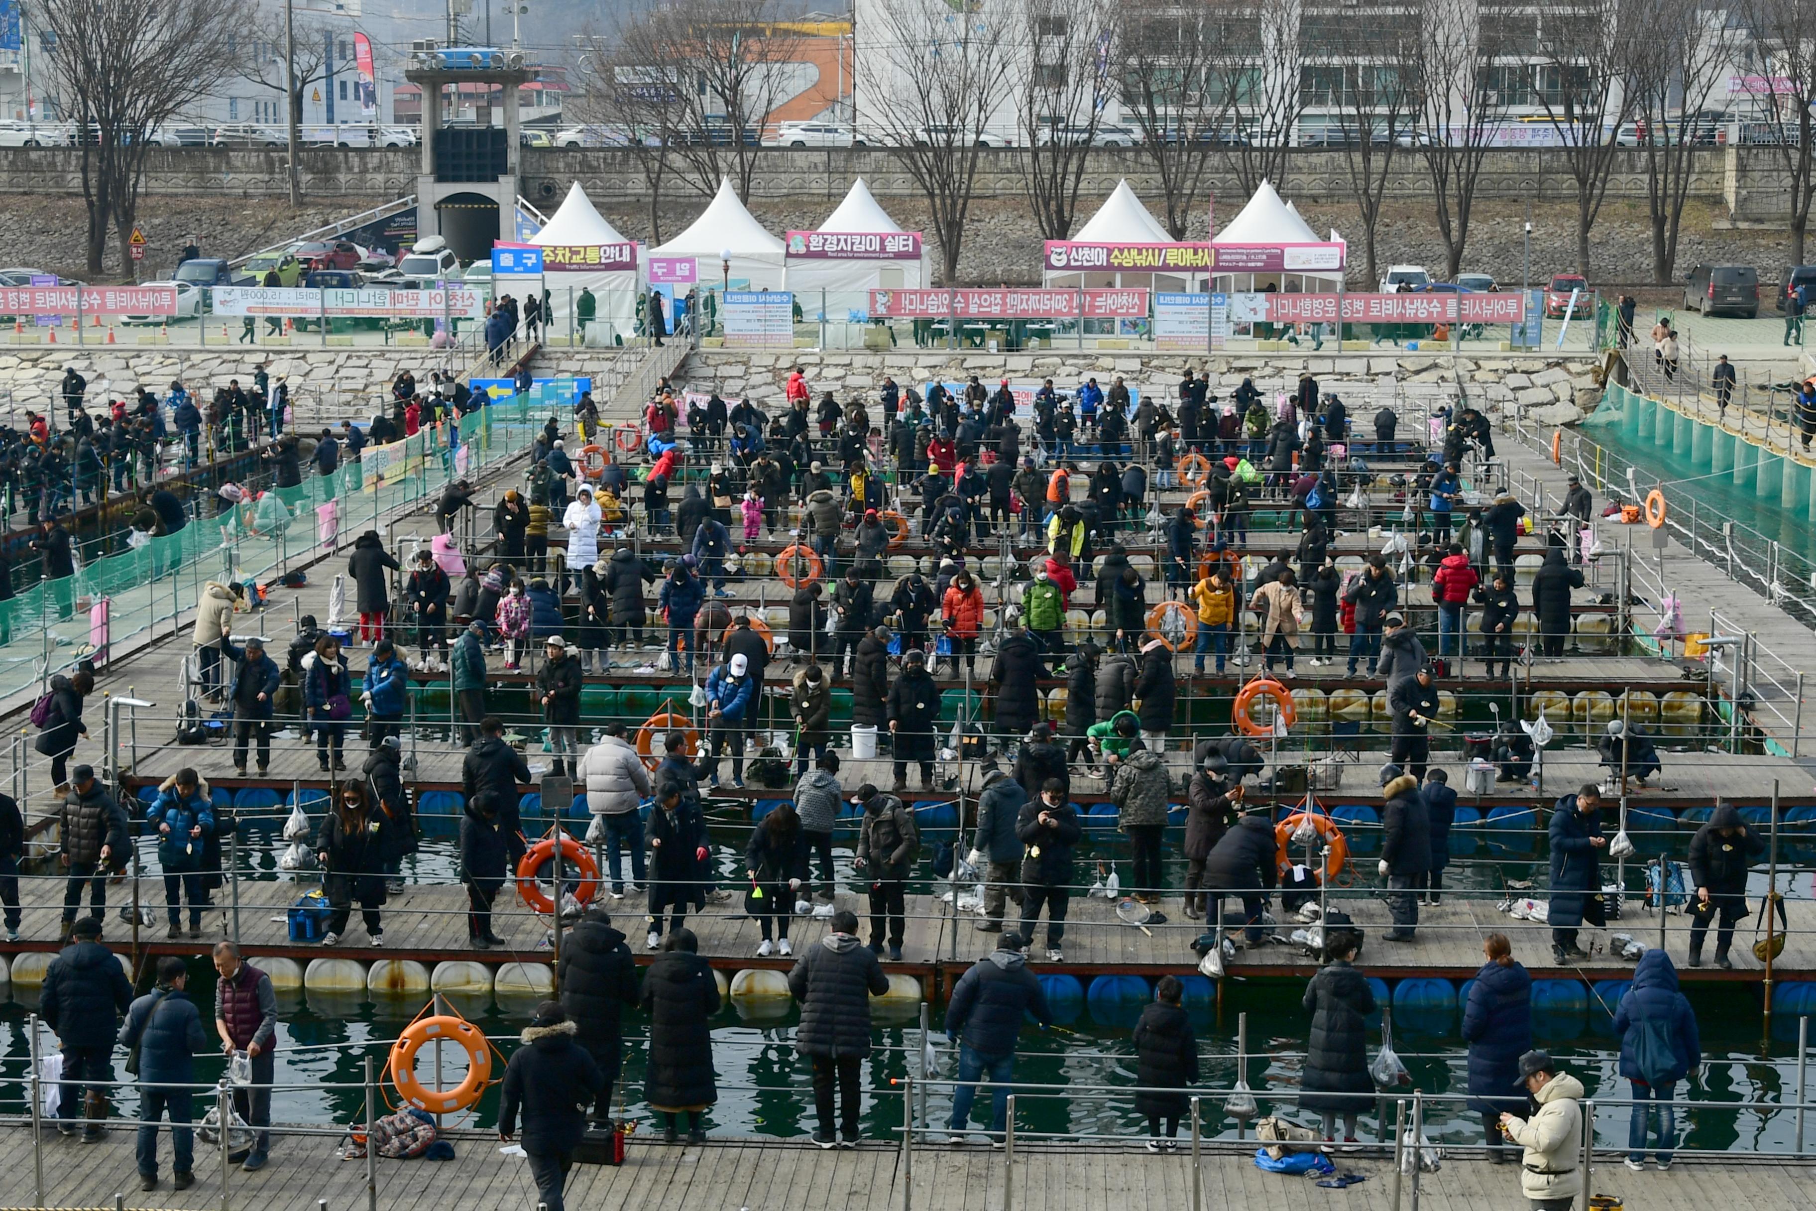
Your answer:
[[[705,1144],[705,1113],[719,1100],[712,1066],[712,1015],[719,1011],[719,984],[697,951],[692,930],[674,930],[643,977],[643,1009],[650,1015],[643,1100],[661,1115],[668,1144],[676,1142],[683,1118],[688,1120],[688,1144]]]

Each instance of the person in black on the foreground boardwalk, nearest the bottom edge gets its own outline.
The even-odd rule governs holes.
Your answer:
[[[498,1104],[501,1140],[516,1133],[518,1113],[523,1113],[523,1151],[536,1178],[536,1196],[547,1211],[565,1207],[561,1195],[574,1149],[587,1135],[587,1106],[605,1080],[592,1057],[576,1046],[577,1029],[559,1002],[536,1006],[536,1017],[523,1029],[523,1046],[505,1066]]]

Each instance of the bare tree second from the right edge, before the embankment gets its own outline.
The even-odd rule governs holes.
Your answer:
[[[1645,158],[1645,207],[1653,229],[1653,281],[1671,281],[1678,260],[1683,198],[1689,194],[1698,136],[1712,129],[1698,118],[1729,69],[1727,47],[1709,27],[1709,13],[1674,0],[1642,0],[1645,36],[1634,40],[1633,87],[1640,149]]]

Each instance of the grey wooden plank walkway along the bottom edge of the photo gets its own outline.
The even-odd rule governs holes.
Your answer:
[[[0,1180],[0,1204],[33,1206],[29,1127],[9,1127],[15,1164]],[[536,1184],[523,1158],[499,1157],[490,1133],[456,1133],[452,1162],[380,1160],[376,1206],[441,1207],[445,1211],[534,1211]],[[54,1133],[44,1142],[47,1207],[171,1207],[220,1211],[314,1211],[318,1202],[352,1209],[367,1206],[365,1162],[340,1160],[325,1137],[274,1140],[271,1164],[260,1173],[229,1171],[222,1198],[220,1160],[198,1147],[196,1186],[176,1193],[169,1180],[167,1137],[160,1138],[163,1182],[140,1193],[133,1167],[133,1137],[114,1129],[104,1144],[87,1146]],[[1347,1189],[1317,1189],[1306,1178],[1262,1173],[1253,1146],[1208,1146],[1199,1160],[1200,1200],[1193,1202],[1189,1144],[1179,1153],[1150,1155],[1126,1146],[1017,1146],[1013,1187],[1010,1160],[988,1147],[917,1144],[912,1158],[893,1144],[864,1144],[850,1151],[821,1151],[797,1140],[719,1138],[705,1146],[665,1146],[632,1137],[621,1167],[576,1166],[567,1204],[588,1209],[686,1207],[688,1211],[1104,1211],[1104,1207],[1251,1207],[1300,1211],[1327,1206],[1337,1211],[1389,1211],[1409,1206],[1411,1178],[1395,1202],[1393,1164],[1384,1155],[1338,1155],[1338,1171],[1360,1173]],[[1629,1173],[1614,1153],[1598,1155],[1591,1191],[1616,1195],[1633,1211],[1707,1211],[1707,1207],[1816,1207],[1809,1162],[1747,1157],[1680,1158],[1671,1173]],[[1478,1158],[1446,1157],[1438,1173],[1418,1178],[1418,1206],[1431,1211],[1505,1211],[1524,1207],[1518,1169]]]

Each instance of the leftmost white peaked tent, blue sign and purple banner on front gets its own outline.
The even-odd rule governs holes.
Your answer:
[[[561,209],[548,225],[530,236],[532,247],[543,249],[543,292],[548,298],[548,330],[581,332],[581,290],[594,296],[592,323],[581,334],[588,345],[614,345],[636,329],[637,301],[643,290],[639,249],[619,234],[592,205],[587,191],[574,182]],[[592,252],[610,249],[610,252]],[[501,280],[508,283],[507,280]],[[508,285],[501,285],[508,290]]]

